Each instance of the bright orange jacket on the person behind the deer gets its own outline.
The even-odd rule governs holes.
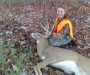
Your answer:
[[[72,21],[71,21],[69,18],[64,18],[64,19],[62,19],[62,20],[59,20],[58,18],[56,18],[56,19],[57,19],[57,23],[56,23],[56,25],[54,26],[53,32],[59,33],[59,32],[62,31],[62,29],[63,29],[65,26],[68,26],[69,35],[70,35],[70,37],[73,39],[73,38],[74,38],[74,29],[73,29]]]

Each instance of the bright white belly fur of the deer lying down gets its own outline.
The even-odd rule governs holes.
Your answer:
[[[80,67],[76,64],[75,61],[66,60],[52,64],[52,66],[58,69],[62,69],[68,74],[75,73],[75,75],[87,75],[80,69]]]

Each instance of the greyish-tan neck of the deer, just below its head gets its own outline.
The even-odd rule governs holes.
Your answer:
[[[40,39],[37,43],[37,52],[40,57],[44,56],[44,51],[48,48],[48,40]]]

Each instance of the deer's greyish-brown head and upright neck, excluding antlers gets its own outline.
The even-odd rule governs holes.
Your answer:
[[[37,52],[41,59],[45,59],[43,56],[43,51],[48,48],[48,40],[44,37],[44,35],[40,33],[32,33],[32,38],[36,40],[37,43]]]

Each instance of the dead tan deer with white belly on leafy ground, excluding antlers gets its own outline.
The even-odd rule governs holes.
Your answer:
[[[47,65],[62,69],[66,73],[74,75],[90,75],[90,59],[72,50],[52,47],[48,40],[40,33],[32,33],[32,37],[37,41],[37,52],[42,59],[39,63],[37,75],[42,75],[40,68]],[[36,67],[34,67],[36,71]]]

